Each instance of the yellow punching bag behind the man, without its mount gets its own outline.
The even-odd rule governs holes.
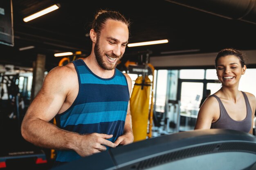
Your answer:
[[[134,142],[144,140],[147,136],[150,85],[151,81],[148,76],[144,79],[143,76],[139,76],[132,89],[130,111]]]

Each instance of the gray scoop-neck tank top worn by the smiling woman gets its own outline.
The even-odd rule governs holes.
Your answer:
[[[233,129],[237,131],[249,132],[252,128],[252,109],[249,103],[249,100],[244,92],[243,96],[245,98],[246,104],[246,118],[241,121],[236,121],[232,119],[229,114],[227,113],[224,105],[222,104],[220,98],[216,95],[211,95],[215,97],[220,105],[220,118],[211,124],[211,129]]]

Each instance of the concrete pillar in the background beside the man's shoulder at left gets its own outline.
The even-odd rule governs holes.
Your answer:
[[[36,97],[36,94],[43,85],[43,80],[45,78],[45,57],[44,54],[37,54],[37,59],[33,62],[31,101]]]

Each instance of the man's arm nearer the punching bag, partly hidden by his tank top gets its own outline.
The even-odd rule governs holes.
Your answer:
[[[131,92],[132,89],[132,80],[128,74],[124,74],[127,79],[128,87],[129,87],[129,92]],[[115,142],[116,146],[119,144],[121,145],[126,145],[130,144],[133,142],[133,133],[132,133],[132,116],[130,114],[130,102],[128,103],[128,108],[127,108],[127,114],[126,114],[126,120],[124,124],[124,134],[119,136]]]

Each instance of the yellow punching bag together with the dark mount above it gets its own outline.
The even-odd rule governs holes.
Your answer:
[[[153,82],[150,81],[148,75],[152,75],[154,81],[155,69],[150,63],[148,63],[149,54],[149,51],[139,52],[139,62],[135,63],[127,61],[125,63],[127,73],[138,74],[130,97],[130,111],[132,115],[134,142],[152,137],[154,87]],[[143,57],[145,58],[145,62],[143,62]]]

